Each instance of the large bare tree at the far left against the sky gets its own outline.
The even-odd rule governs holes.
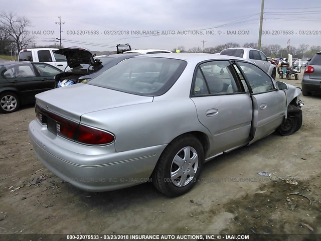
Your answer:
[[[6,12],[0,14],[0,28],[13,39],[18,51],[26,48],[33,40],[29,35],[28,27],[31,27],[31,23],[25,17]]]

